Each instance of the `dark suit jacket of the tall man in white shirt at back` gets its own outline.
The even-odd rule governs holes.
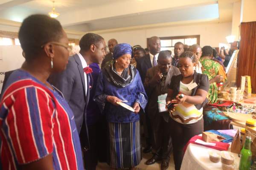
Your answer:
[[[145,55],[144,57],[141,57],[137,59],[137,70],[140,73],[140,77],[142,82],[144,83],[147,71],[149,68],[152,67],[151,60],[149,54]]]

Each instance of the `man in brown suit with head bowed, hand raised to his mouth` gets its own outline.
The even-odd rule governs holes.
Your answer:
[[[158,65],[149,68],[145,77],[144,87],[148,96],[147,114],[153,130],[151,159],[146,164],[154,164],[162,159],[161,170],[169,167],[172,140],[169,132],[169,114],[159,113],[158,96],[167,94],[172,76],[179,75],[177,67],[172,66],[172,57],[169,51],[161,51],[157,60]]]

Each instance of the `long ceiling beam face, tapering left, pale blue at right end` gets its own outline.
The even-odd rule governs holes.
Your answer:
[[[186,7],[110,17],[92,20],[74,26],[66,26],[65,28],[86,32],[177,21],[216,20],[218,18],[218,4],[211,4],[207,6]]]

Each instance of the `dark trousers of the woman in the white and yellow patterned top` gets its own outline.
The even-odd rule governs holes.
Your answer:
[[[204,131],[204,119],[186,125],[173,119],[170,120],[175,170],[180,170],[184,153],[183,149],[193,136],[199,135]]]

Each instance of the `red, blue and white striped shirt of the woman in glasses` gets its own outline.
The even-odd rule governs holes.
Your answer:
[[[55,170],[84,170],[74,116],[61,92],[22,70],[6,87],[0,101],[3,169],[19,170],[52,154]]]

